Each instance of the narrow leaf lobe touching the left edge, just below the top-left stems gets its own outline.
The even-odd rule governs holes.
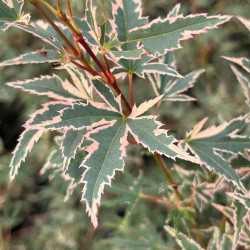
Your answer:
[[[46,50],[44,51],[44,53],[46,54],[46,56],[42,56],[39,52],[30,52],[27,54],[23,54],[16,58],[1,62],[0,67],[32,63],[53,63],[61,61],[61,54],[56,50]]]

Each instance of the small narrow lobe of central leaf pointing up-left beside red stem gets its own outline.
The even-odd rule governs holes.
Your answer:
[[[97,79],[92,80],[92,83],[98,95],[102,97],[102,99],[108,104],[108,106],[111,109],[114,109],[114,111],[120,112],[120,105],[117,102],[111,89],[103,82]]]

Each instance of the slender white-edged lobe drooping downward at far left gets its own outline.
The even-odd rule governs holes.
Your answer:
[[[28,152],[31,151],[34,144],[43,134],[43,130],[28,130],[26,129],[19,137],[18,144],[13,152],[13,157],[10,163],[10,179],[13,180],[17,175],[21,163],[25,160]]]

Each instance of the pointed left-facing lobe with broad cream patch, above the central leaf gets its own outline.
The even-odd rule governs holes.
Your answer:
[[[62,101],[76,101],[86,99],[85,95],[76,89],[67,80],[63,81],[57,75],[41,76],[40,78],[25,81],[8,82],[8,86],[19,88],[36,95],[46,95]]]

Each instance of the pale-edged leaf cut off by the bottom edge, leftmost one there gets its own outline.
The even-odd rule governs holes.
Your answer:
[[[175,238],[177,244],[181,249],[183,250],[203,250],[203,248],[195,242],[192,238],[189,238],[187,235],[176,232],[172,227],[170,226],[164,226],[164,230],[170,234],[172,237]]]

